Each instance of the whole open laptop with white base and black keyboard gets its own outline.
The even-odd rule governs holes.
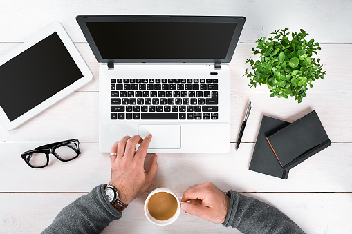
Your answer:
[[[230,67],[245,17],[76,17],[99,68],[99,150],[153,135],[149,153],[227,153]]]

